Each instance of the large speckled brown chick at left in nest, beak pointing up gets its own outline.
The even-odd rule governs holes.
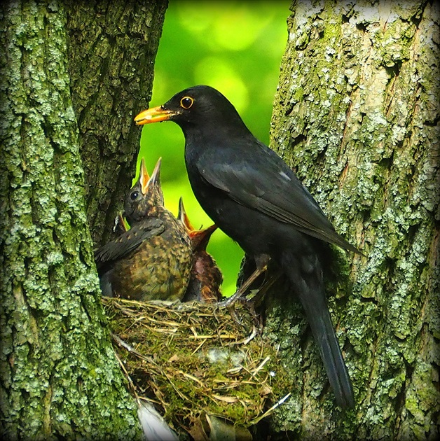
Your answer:
[[[130,230],[99,248],[95,261],[103,295],[133,300],[181,300],[192,266],[191,241],[181,222],[165,209],[160,159],[149,176],[144,160],[125,197]]]

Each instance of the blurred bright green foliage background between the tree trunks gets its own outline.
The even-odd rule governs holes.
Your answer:
[[[165,103],[186,87],[211,85],[234,104],[249,130],[268,144],[273,97],[287,42],[289,4],[287,0],[170,0],[156,58],[151,106]],[[168,209],[177,214],[182,196],[195,228],[212,224],[195,200],[186,176],[180,127],[174,123],[144,126],[139,162],[142,157],[149,172],[158,158],[163,158],[161,182]],[[231,295],[242,260],[241,248],[216,230],[208,251],[224,274],[224,295]]]

